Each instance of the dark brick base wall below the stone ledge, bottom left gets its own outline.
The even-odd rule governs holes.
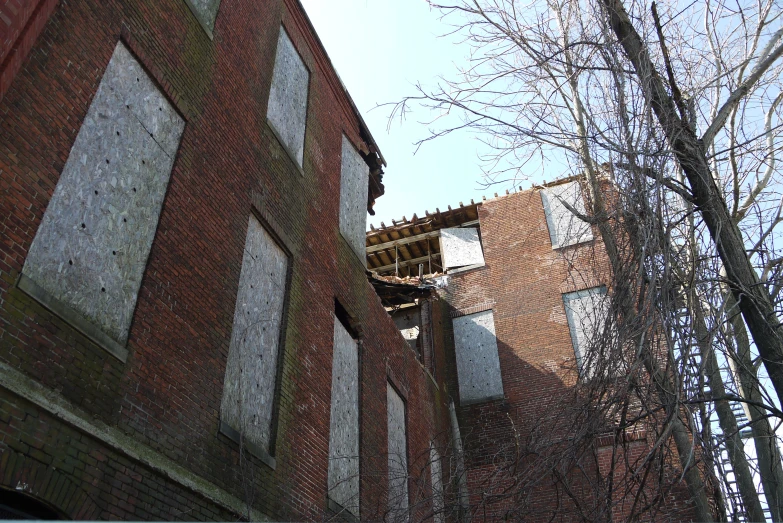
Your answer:
[[[18,398],[0,398],[0,479],[73,519],[223,520],[236,515]]]

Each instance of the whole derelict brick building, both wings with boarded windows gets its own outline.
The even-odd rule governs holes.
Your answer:
[[[8,0],[0,42],[0,517],[549,519],[488,500],[590,372],[577,185],[365,235],[296,0]]]

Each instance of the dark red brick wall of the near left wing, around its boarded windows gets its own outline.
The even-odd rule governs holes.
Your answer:
[[[265,123],[281,21],[311,71],[304,175]],[[256,508],[273,517],[322,519],[337,298],[363,334],[362,510],[363,516],[380,516],[386,507],[389,376],[406,394],[412,474],[419,475],[418,456],[448,425],[442,384],[438,388],[422,369],[338,232],[341,135],[357,143],[358,121],[298,3],[223,0],[214,35],[214,40],[206,37],[181,0],[57,5],[0,100],[0,362],[234,496],[252,497]],[[126,364],[15,287],[120,39],[187,121],[139,292]],[[293,253],[275,470],[254,458],[240,466],[238,446],[218,435],[253,208]],[[191,503],[174,493],[175,486],[166,487],[170,496],[144,502],[111,489],[97,493],[97,484],[118,473],[111,471],[115,458],[92,463],[86,457],[108,455],[99,441],[43,415],[36,418],[30,414],[34,407],[8,390],[0,388],[0,398],[6,405],[0,410],[0,459],[10,459],[13,450],[25,463],[35,463],[29,470],[67,462],[58,470],[68,481],[98,496],[89,513],[58,507],[70,517],[171,519],[166,514],[174,512],[167,510]],[[59,436],[66,432],[73,434]],[[37,433],[53,434],[41,442],[40,453],[19,444]],[[77,438],[84,455],[69,455],[69,442]],[[85,462],[90,472],[77,473]],[[132,488],[163,489],[163,480],[152,472],[133,463],[123,466],[134,471]],[[29,479],[28,468],[4,478],[3,486]],[[419,496],[419,479],[426,483],[426,478],[411,480],[412,501]],[[236,518],[202,502],[204,511],[182,517]]]

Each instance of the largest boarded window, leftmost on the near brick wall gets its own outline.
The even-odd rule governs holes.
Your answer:
[[[117,44],[22,270],[122,344],[184,127]]]

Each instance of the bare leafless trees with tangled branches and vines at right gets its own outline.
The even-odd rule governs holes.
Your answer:
[[[630,405],[641,396],[633,403],[640,419],[665,412],[656,420],[664,427],[652,447],[659,452],[647,459],[661,459],[673,440],[699,519],[723,519],[735,505],[764,519],[758,476],[779,520],[780,6],[431,4],[471,45],[470,59],[455,79],[419,87],[395,114],[416,102],[436,111],[441,126],[432,123],[423,141],[465,128],[482,133],[494,148],[485,158],[489,183],[539,169],[583,177],[590,205],[580,217],[599,230],[612,268],[613,343],[633,354],[630,385],[596,383],[604,391],[596,397]],[[455,113],[456,124],[444,118]],[[731,408],[738,403],[747,422]],[[601,405],[593,412],[608,412]],[[742,441],[748,426],[755,456]],[[711,492],[718,482],[731,497],[715,473],[724,451],[739,485],[725,507]]]

